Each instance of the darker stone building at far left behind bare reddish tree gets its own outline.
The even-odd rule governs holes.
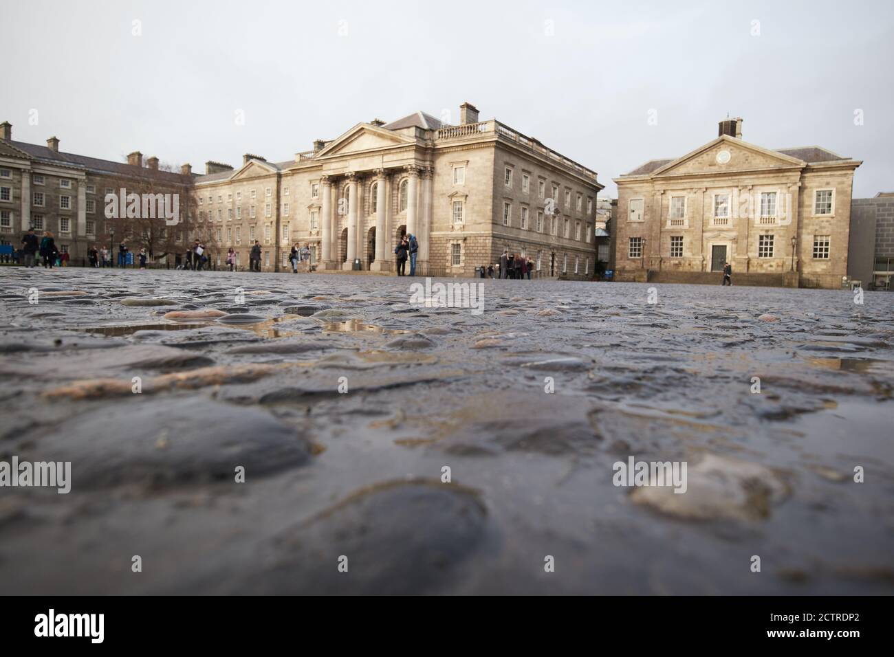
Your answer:
[[[68,252],[72,263],[87,257],[90,245],[109,248],[110,232],[118,227],[114,247],[128,240],[131,249],[156,245],[156,250],[176,250],[177,235],[185,239],[192,186],[190,165],[180,173],[159,169],[158,158],[143,162],[139,151],[127,163],[74,155],[59,150],[59,139],[51,137],[46,146],[13,140],[13,126],[0,123],[0,240],[18,248],[21,235],[29,227],[38,233],[53,232],[60,252]],[[178,194],[179,231],[168,229],[164,220],[152,223],[107,220],[105,195],[128,193]],[[153,234],[154,233],[154,234]],[[185,247],[183,247],[185,249]]]

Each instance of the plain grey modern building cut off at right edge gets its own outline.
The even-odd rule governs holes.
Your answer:
[[[855,198],[850,213],[848,274],[868,290],[890,290],[894,276],[894,192]]]

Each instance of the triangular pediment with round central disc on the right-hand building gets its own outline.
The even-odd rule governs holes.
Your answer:
[[[729,154],[721,156],[722,154]],[[664,164],[652,174],[654,177],[696,175],[699,173],[732,173],[769,168],[790,168],[806,163],[797,157],[749,144],[746,141],[721,135],[702,147]]]

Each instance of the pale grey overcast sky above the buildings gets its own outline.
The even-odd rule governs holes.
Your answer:
[[[417,109],[456,122],[468,101],[595,169],[614,197],[611,178],[701,146],[729,113],[760,146],[863,160],[854,195],[870,197],[894,190],[892,7],[7,2],[0,121],[13,139],[204,173]]]

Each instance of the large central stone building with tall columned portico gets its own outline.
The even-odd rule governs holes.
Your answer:
[[[268,271],[287,268],[298,244],[318,270],[392,272],[406,232],[419,242],[417,274],[472,276],[506,248],[541,275],[585,279],[603,185],[537,139],[478,121],[466,103],[458,125],[417,112],[360,122],[284,162],[208,162],[194,189],[200,234],[232,246],[240,266],[259,240]]]

